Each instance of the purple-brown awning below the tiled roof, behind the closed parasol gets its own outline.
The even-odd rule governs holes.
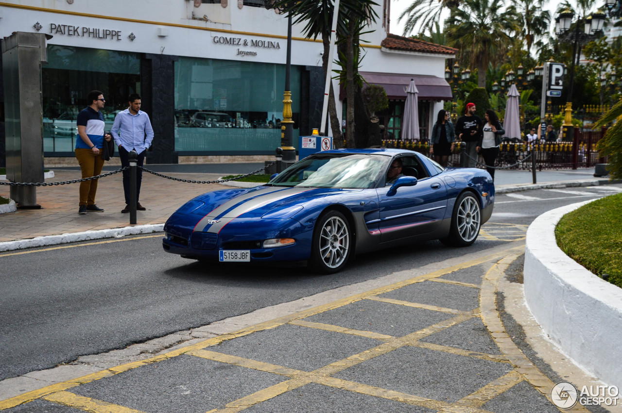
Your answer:
[[[369,84],[383,86],[387,97],[393,100],[406,101],[406,89],[415,80],[420,101],[448,101],[452,99],[452,88],[443,78],[431,75],[399,75],[397,73],[376,73],[361,71],[361,76]],[[339,98],[345,98],[345,90],[340,88]]]

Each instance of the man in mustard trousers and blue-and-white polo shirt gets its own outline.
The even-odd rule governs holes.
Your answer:
[[[100,109],[104,108],[106,99],[98,90],[88,94],[89,106],[78,114],[78,138],[76,139],[75,154],[80,163],[82,178],[98,176],[104,166],[101,158],[101,148],[104,140],[109,141],[112,137],[104,134],[104,116]],[[102,212],[103,208],[95,205],[97,193],[97,179],[80,183],[80,205],[78,214],[84,215],[86,211]]]

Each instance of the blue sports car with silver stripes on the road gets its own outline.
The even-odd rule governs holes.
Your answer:
[[[394,245],[471,245],[493,203],[485,170],[443,168],[409,150],[329,150],[267,184],[186,202],[164,225],[162,244],[184,258],[307,261],[335,273],[355,254]]]

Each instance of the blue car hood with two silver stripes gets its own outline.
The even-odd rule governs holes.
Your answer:
[[[225,189],[196,197],[180,208],[180,212],[191,212],[203,216],[202,222],[199,222],[195,228],[201,231],[215,220],[224,223],[235,218],[287,219],[302,211],[309,204],[334,202],[332,198],[337,194],[360,191],[361,189],[284,188],[281,186],[259,186],[242,190]],[[330,197],[331,201],[328,201],[327,197]],[[183,209],[186,211],[181,211]]]

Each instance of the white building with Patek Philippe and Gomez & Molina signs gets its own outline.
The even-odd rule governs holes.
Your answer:
[[[388,35],[389,0],[376,12],[360,70],[388,91],[387,137],[399,137],[411,78],[428,136],[435,112],[451,98],[443,74],[455,50]],[[300,29],[292,28],[296,147],[319,126],[324,89],[322,41],[304,39]],[[264,0],[0,2],[0,37],[17,31],[52,35],[42,68],[46,158],[73,158],[76,117],[93,89],[106,98],[107,127],[130,93],[141,94],[156,133],[149,163],[261,160],[281,143],[287,18]]]

